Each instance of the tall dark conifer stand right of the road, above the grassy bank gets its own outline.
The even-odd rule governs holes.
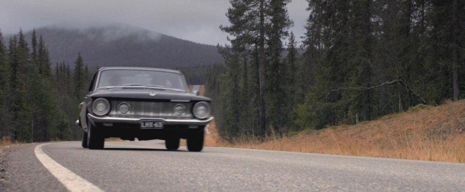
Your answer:
[[[220,28],[231,45],[218,46],[227,67],[211,68],[207,81],[226,140],[464,97],[464,1],[308,0],[302,55],[288,32],[289,0],[230,2],[231,25]]]

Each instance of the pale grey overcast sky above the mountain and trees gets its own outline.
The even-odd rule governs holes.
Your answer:
[[[290,30],[304,35],[306,0],[293,0]],[[0,30],[12,34],[51,25],[78,28],[124,23],[189,41],[227,42],[219,25],[229,25],[229,0],[0,0]],[[300,41],[300,38],[298,38]]]

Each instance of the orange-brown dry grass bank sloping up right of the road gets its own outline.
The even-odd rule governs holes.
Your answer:
[[[216,128],[210,126],[210,130]],[[207,146],[270,149],[369,157],[465,162],[465,101],[415,108],[354,126],[304,131],[265,142],[238,140]]]

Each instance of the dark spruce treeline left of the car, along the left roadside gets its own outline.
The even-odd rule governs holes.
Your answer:
[[[80,54],[73,72],[64,62],[52,72],[48,48],[35,30],[31,46],[22,31],[7,45],[0,32],[0,137],[20,142],[80,138],[74,121],[89,81]]]

